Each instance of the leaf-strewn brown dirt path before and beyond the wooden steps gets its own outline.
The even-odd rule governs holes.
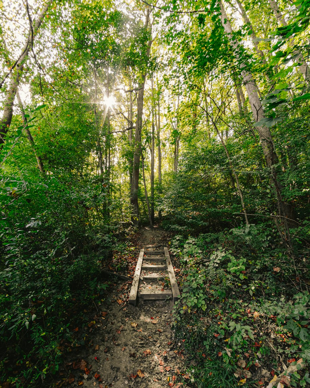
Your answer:
[[[169,236],[162,230],[143,228],[139,234],[139,249],[167,246]],[[131,284],[118,285],[104,303],[105,310],[93,317],[89,334],[93,345],[83,359],[71,364],[75,378],[71,386],[186,388],[189,376],[184,370],[182,342],[176,343],[171,331],[172,301],[140,301],[133,307],[127,303]]]

